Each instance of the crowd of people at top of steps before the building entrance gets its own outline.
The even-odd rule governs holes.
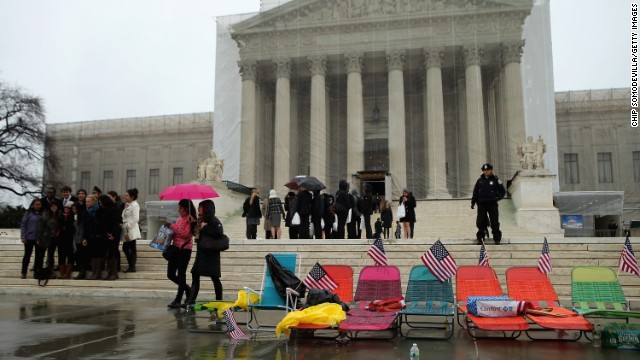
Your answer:
[[[374,196],[369,184],[363,186],[360,195],[357,189],[349,188],[349,182],[341,180],[335,195],[302,186],[297,192],[289,191],[284,199],[275,189],[261,199],[260,190],[254,188],[243,203],[242,217],[246,218],[247,239],[258,238],[261,222],[266,239],[282,238],[282,227],[288,228],[289,239],[373,239],[376,234],[389,239],[394,223],[397,239],[401,234],[412,239],[416,199],[404,189],[398,203],[405,215],[394,220],[391,201]],[[372,222],[375,213],[378,218]]]

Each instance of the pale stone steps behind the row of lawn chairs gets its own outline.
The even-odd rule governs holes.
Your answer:
[[[15,235],[15,234],[14,234]],[[637,244],[640,239],[633,238]],[[406,287],[409,272],[414,265],[421,264],[419,257],[433,243],[433,239],[413,239],[385,242],[389,263],[400,268],[403,288]],[[478,262],[480,246],[474,240],[442,240],[458,265],[475,265]],[[559,238],[550,239],[550,254],[553,271],[550,279],[565,305],[571,298],[571,269],[578,265],[617,267],[623,238]],[[354,267],[354,283],[360,269],[373,262],[367,256],[371,240],[245,240],[232,239],[231,248],[222,255],[222,282],[225,299],[235,298],[244,286],[260,288],[263,276],[264,256],[270,252],[297,252],[302,259],[301,278],[313,264],[346,264]],[[542,239],[518,237],[505,239],[500,246],[487,244],[491,266],[506,291],[504,273],[511,266],[536,266],[542,249]],[[175,285],[166,279],[166,262],[160,252],[138,243],[139,266],[136,273],[120,273],[117,281],[51,280],[44,287],[36,286],[33,279],[20,279],[20,263],[23,246],[16,236],[0,237],[0,288],[4,293],[62,295],[62,296],[135,296],[166,297],[175,293]],[[192,256],[192,261],[195,256]],[[188,275],[190,279],[190,275]],[[640,308],[640,281],[629,274],[620,275],[620,283],[627,299],[634,308]],[[455,284],[455,281],[454,281]],[[203,279],[202,299],[212,296],[212,285]]]

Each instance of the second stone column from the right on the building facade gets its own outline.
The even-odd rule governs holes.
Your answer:
[[[471,45],[462,49],[465,65],[465,97],[467,109],[467,177],[464,189],[468,189],[469,195],[481,173],[482,164],[489,161],[487,158],[486,131],[484,122],[484,103],[482,99],[482,75],[480,72],[480,59],[483,55],[481,47]]]

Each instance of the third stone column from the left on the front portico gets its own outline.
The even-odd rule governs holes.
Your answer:
[[[325,72],[327,56],[309,56],[311,70],[310,175],[327,184],[327,100]]]

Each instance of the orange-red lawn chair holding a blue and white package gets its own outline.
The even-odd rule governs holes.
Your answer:
[[[488,266],[460,266],[456,274],[456,313],[458,324],[467,329],[471,337],[478,338],[472,332],[474,329],[485,331],[500,331],[506,338],[515,339],[529,324],[524,316],[513,317],[481,317],[467,312],[467,298],[469,296],[502,296],[502,288],[495,271]],[[464,317],[465,324],[460,318]],[[507,332],[511,332],[507,336]]]

